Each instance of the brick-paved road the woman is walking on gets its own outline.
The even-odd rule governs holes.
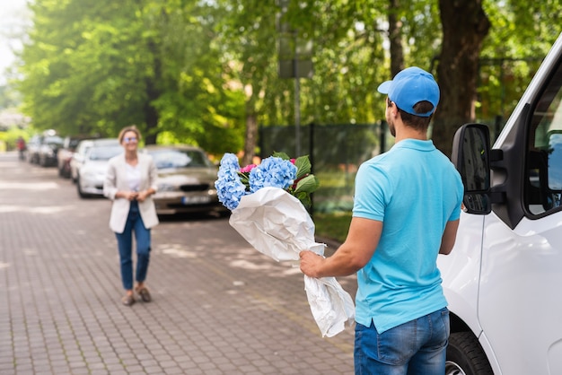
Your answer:
[[[353,373],[353,328],[322,338],[300,271],[227,219],[163,221],[154,301],[121,305],[109,214],[57,170],[0,153],[0,374]]]

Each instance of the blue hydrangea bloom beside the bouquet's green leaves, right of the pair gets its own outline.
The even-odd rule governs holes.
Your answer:
[[[291,161],[270,156],[253,170],[250,170],[250,192],[260,188],[289,188],[296,179],[297,168]]]

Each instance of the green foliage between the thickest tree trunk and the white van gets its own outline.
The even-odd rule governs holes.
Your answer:
[[[484,2],[492,28],[480,58],[477,117],[506,119],[562,31],[562,3]],[[532,43],[529,43],[532,40]]]

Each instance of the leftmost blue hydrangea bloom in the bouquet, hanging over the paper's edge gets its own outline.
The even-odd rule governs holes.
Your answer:
[[[239,170],[240,164],[236,155],[224,153],[215,188],[218,200],[231,211],[238,207],[241,197],[246,195],[246,186],[241,183],[238,176]]]

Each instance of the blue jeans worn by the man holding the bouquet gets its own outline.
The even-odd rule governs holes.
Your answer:
[[[443,375],[449,310],[435,311],[379,334],[356,324],[356,374]]]

